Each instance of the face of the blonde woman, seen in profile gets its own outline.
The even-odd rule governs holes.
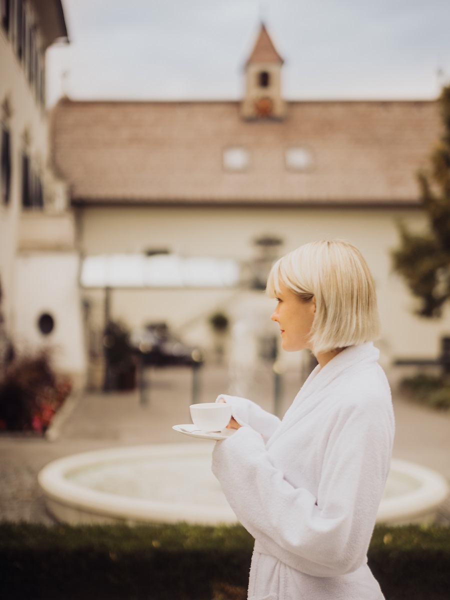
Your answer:
[[[316,313],[314,298],[307,301],[301,300],[281,283],[277,301],[278,304],[271,319],[280,326],[283,350],[295,352],[310,348],[308,337]]]

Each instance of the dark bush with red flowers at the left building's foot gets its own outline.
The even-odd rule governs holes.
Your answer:
[[[0,379],[0,429],[44,432],[71,392],[67,377],[57,377],[49,353],[14,359]]]

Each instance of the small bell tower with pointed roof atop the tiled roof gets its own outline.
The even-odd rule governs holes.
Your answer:
[[[283,119],[286,103],[281,98],[283,59],[275,50],[264,23],[245,64],[245,95],[241,105],[244,119]]]

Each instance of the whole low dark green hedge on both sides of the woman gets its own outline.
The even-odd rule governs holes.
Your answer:
[[[245,598],[253,538],[241,526],[0,523],[5,600]],[[450,529],[376,527],[369,565],[387,600],[450,598]]]

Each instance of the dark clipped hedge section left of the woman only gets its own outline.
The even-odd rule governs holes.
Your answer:
[[[0,523],[0,595],[211,600],[223,582],[247,587],[252,547],[242,527]]]

